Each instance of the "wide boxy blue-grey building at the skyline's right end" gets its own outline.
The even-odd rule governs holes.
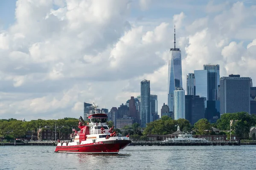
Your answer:
[[[250,77],[229,75],[220,78],[220,111],[250,113]]]

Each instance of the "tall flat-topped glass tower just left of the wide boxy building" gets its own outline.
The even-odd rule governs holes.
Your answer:
[[[218,99],[218,85],[220,85],[220,65],[205,64],[207,70],[207,100]]]

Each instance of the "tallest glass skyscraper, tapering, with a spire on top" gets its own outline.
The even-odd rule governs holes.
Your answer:
[[[174,48],[170,49],[168,61],[168,106],[173,111],[175,88],[182,88],[182,67],[181,51],[176,48],[175,28],[174,28]]]

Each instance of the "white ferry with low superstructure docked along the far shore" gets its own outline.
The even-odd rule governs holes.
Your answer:
[[[177,127],[177,131],[180,131],[180,127]],[[185,133],[185,132],[180,132],[178,136],[175,138],[171,139],[166,139],[163,142],[190,142],[190,143],[206,143],[209,142],[207,139],[204,138],[194,138],[192,133]]]

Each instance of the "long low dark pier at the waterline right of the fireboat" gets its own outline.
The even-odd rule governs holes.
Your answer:
[[[130,146],[240,146],[240,142],[211,141],[211,142],[162,142],[162,141],[133,141]]]

